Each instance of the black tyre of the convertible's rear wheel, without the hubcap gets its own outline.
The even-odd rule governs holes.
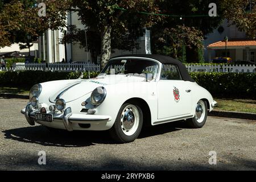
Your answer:
[[[204,106],[202,108],[205,111],[204,117],[200,118],[200,122],[199,122],[199,119],[197,119],[196,114],[193,118],[187,119],[186,123],[192,129],[199,129],[199,128],[203,127],[205,125],[205,122],[207,121],[207,115],[208,115],[207,102],[200,100],[199,102],[197,102],[197,104],[199,104],[199,103],[201,103],[202,105],[204,103]],[[195,113],[196,113],[196,109],[195,109]]]

